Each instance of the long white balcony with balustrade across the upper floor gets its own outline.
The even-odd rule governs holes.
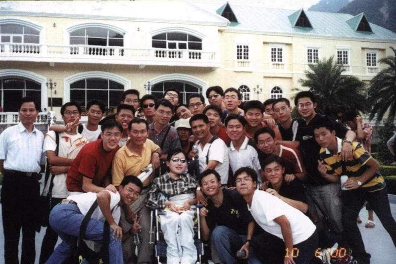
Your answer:
[[[0,44],[2,61],[220,67],[218,52],[94,45]]]

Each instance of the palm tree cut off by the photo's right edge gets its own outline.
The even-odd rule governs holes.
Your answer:
[[[378,61],[389,67],[380,71],[371,80],[368,89],[369,100],[372,103],[370,119],[377,116],[377,122],[384,118],[387,111],[389,111],[389,120],[395,120],[396,117],[396,49],[393,47],[391,49],[395,56],[388,56]]]

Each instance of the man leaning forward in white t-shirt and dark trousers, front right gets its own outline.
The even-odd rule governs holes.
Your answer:
[[[251,243],[260,261],[309,263],[318,245],[316,226],[312,221],[281,199],[256,190],[257,174],[253,169],[241,168],[236,171],[235,177],[237,191],[247,202],[253,219],[266,231],[254,237]]]

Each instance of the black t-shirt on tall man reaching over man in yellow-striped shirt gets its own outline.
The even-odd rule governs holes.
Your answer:
[[[313,135],[314,128],[318,124],[323,123],[332,123],[336,130],[336,135],[340,138],[344,138],[348,131],[348,129],[342,124],[321,114],[316,114],[308,125],[305,122],[301,122],[301,124],[299,124],[296,140],[300,142],[299,151],[308,174],[307,182],[313,185],[325,185],[329,183],[319,174],[318,160],[320,159],[320,146],[316,143],[315,136]]]

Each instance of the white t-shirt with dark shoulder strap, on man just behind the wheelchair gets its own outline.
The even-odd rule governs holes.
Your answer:
[[[197,149],[198,149],[199,172],[202,173],[203,170],[206,168],[207,165],[206,156],[209,151],[208,161],[215,160],[219,162],[215,168],[215,171],[220,175],[221,184],[227,184],[228,166],[230,162],[228,158],[228,148],[227,145],[224,143],[224,141],[220,138],[217,138],[211,144],[206,143],[203,146],[203,149],[201,149],[200,144],[197,144]]]

